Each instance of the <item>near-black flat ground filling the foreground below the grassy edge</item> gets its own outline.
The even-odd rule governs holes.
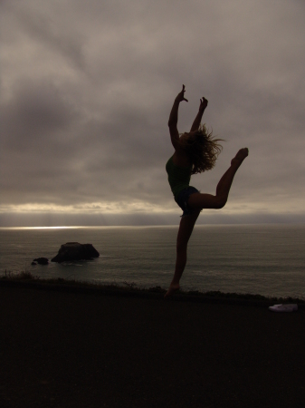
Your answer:
[[[0,407],[305,406],[305,311],[0,285]]]

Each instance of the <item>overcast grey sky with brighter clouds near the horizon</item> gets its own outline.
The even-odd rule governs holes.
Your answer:
[[[25,216],[33,225],[178,223],[165,165],[168,114],[183,83],[179,131],[205,96],[204,122],[226,140],[214,170],[191,184],[214,194],[236,151],[250,151],[226,207],[205,210],[201,222],[305,220],[302,0],[0,7],[0,225]]]

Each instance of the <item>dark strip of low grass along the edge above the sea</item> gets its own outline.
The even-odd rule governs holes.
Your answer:
[[[62,277],[42,279],[29,272],[8,274],[0,277],[0,287],[28,287],[40,290],[51,290],[69,293],[92,294],[95,296],[123,296],[163,299],[166,290],[161,287],[139,288],[124,282],[119,285],[103,285],[87,281],[69,280]],[[272,306],[276,303],[297,303],[305,309],[305,299],[298,297],[262,296],[259,294],[224,293],[221,291],[200,292],[197,290],[179,290],[166,301],[186,301],[199,303],[215,303],[240,306]]]

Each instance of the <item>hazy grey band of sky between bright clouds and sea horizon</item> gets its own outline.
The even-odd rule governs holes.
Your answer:
[[[162,227],[178,226],[180,211],[156,213],[59,213],[1,212],[0,228],[89,228],[89,227]],[[197,225],[305,224],[304,212],[253,212],[217,214],[202,212]]]

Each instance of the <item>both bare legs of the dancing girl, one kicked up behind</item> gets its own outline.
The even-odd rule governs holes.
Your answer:
[[[194,193],[189,197],[187,204],[189,207],[196,209],[196,211],[194,214],[186,216],[180,221],[178,236],[176,238],[175,273],[164,297],[171,296],[180,287],[179,281],[186,267],[187,243],[192,235],[195,221],[200,214],[200,210],[222,209],[224,207],[234,180],[234,175],[248,154],[249,152],[246,148],[237,152],[236,156],[231,161],[230,168],[225,171],[224,176],[221,178],[221,180],[219,180],[215,196],[212,194]]]

